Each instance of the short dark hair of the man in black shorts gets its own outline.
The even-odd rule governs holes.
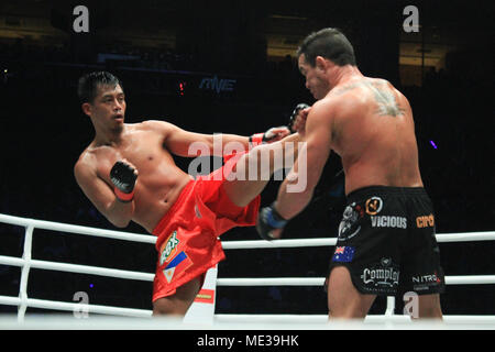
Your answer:
[[[317,56],[328,58],[338,66],[355,66],[354,48],[338,29],[323,29],[309,34],[297,50],[297,57],[302,54],[312,67]]]

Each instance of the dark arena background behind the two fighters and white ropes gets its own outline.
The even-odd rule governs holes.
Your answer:
[[[79,31],[77,6],[89,13]],[[407,6],[419,23],[407,26]],[[74,164],[94,129],[77,79],[110,70],[124,86],[127,122],[172,122],[201,133],[250,135],[286,124],[314,103],[297,69],[301,40],[341,29],[365,76],[382,77],[409,99],[422,179],[437,232],[492,231],[494,221],[494,13],[490,1],[45,1],[0,2],[0,213],[145,234],[113,227],[79,189]],[[79,23],[80,24],[80,23]],[[78,29],[76,31],[75,29]],[[406,31],[409,29],[413,31]],[[187,169],[190,160],[176,158]],[[285,239],[336,238],[336,154],[315,199]],[[280,182],[262,194],[271,204]],[[0,223],[0,255],[22,256],[23,228]],[[33,258],[154,273],[153,245],[36,230]],[[258,240],[254,228],[222,241]],[[232,250],[219,277],[322,277],[330,248]],[[446,275],[495,274],[495,243],[441,243]],[[18,296],[21,268],[0,265],[0,295]],[[152,283],[31,270],[28,296],[152,309]],[[378,298],[371,314],[383,314]],[[402,298],[396,299],[400,314]],[[494,285],[449,285],[444,315],[495,315]],[[0,312],[16,312],[0,305]],[[28,308],[29,314],[55,312]],[[326,315],[321,287],[218,287],[218,314]],[[69,312],[67,312],[69,315]],[[72,312],[70,312],[72,314]]]

